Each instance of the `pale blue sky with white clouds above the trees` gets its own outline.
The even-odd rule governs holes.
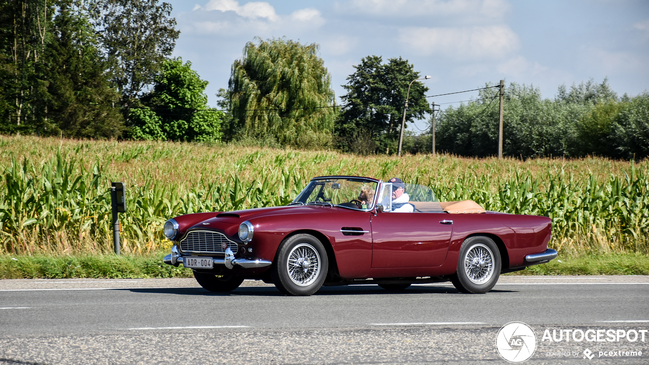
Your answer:
[[[426,95],[532,84],[543,97],[593,78],[619,95],[649,89],[649,1],[639,0],[165,0],[180,29],[174,56],[191,61],[209,104],[227,88],[230,65],[254,37],[318,43],[336,97],[369,55],[401,56]],[[429,98],[436,104],[477,91]],[[459,104],[443,104],[442,108]],[[415,123],[415,131],[426,128]]]

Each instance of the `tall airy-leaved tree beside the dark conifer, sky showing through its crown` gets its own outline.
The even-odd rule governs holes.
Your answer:
[[[158,0],[96,0],[95,27],[112,80],[130,104],[153,83],[162,62],[173,52],[180,31],[170,18],[171,4]]]

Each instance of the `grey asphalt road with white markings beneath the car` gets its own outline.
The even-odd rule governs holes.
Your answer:
[[[528,363],[649,363],[649,333],[646,342],[541,341],[545,329],[648,329],[649,277],[502,277],[482,295],[439,284],[325,287],[310,297],[254,282],[215,294],[192,279],[155,280],[0,281],[0,364],[505,364],[495,338],[512,321],[537,336]],[[582,359],[586,347],[621,346],[646,355]]]

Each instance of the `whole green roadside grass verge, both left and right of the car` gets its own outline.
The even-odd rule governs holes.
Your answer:
[[[0,279],[193,277],[190,269],[162,263],[159,255],[0,255]],[[561,261],[561,262],[559,262]],[[561,257],[515,275],[649,275],[649,255],[607,253]]]

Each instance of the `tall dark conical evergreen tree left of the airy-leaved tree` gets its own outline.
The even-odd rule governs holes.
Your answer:
[[[39,134],[118,137],[123,130],[119,93],[96,48],[95,32],[80,1],[60,0],[51,40],[37,66],[34,126]]]

